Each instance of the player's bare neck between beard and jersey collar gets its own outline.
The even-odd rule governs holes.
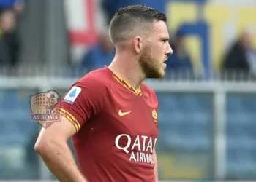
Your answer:
[[[141,82],[145,79],[138,62],[132,61],[129,57],[115,56],[110,66],[110,71],[121,77],[125,82],[130,84],[133,89],[138,90]]]

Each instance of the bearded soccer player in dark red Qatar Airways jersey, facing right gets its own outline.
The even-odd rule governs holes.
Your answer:
[[[143,80],[162,78],[168,43],[165,14],[119,9],[110,22],[112,63],[73,84],[56,108],[61,122],[42,129],[36,151],[59,181],[155,182],[157,96]],[[67,140],[72,137],[79,167]]]

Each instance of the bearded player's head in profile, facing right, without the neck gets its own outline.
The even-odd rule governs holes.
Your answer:
[[[142,5],[119,9],[110,22],[110,39],[116,51],[128,50],[147,78],[161,78],[170,48],[166,16]]]

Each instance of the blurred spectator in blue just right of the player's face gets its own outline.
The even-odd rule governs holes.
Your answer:
[[[170,42],[170,46],[173,48],[173,55],[170,55],[166,64],[167,74],[184,74],[190,75],[192,73],[192,63],[189,54],[185,47],[185,35],[184,33],[176,33],[173,42]]]

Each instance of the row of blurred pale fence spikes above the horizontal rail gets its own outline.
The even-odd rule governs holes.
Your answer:
[[[61,77],[61,78],[75,78],[84,76],[88,71],[95,68],[83,68],[81,66],[47,66],[47,65],[26,65],[18,68],[2,67],[0,66],[0,77],[23,77],[31,78],[37,76],[47,77]],[[205,74],[203,71],[192,71],[190,69],[167,69],[164,80],[190,80],[190,81],[202,81],[202,80],[222,80],[222,81],[234,81],[234,82],[252,82],[256,80],[256,74],[250,71],[244,71],[240,69],[227,70],[227,71],[211,71],[209,74]]]

